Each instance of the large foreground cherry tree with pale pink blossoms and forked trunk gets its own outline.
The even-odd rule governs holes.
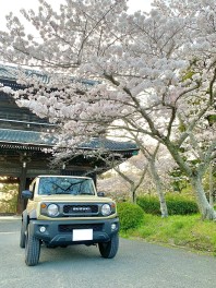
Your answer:
[[[26,86],[14,93],[17,104],[59,127],[59,146],[108,129],[130,129],[137,144],[156,140],[188,176],[202,217],[216,219],[202,184],[216,154],[207,121],[216,105],[215,0],[155,0],[149,14],[128,14],[127,0],[65,0],[58,12],[39,2],[37,13],[22,11],[36,36],[12,13],[0,33],[1,59],[20,67]]]

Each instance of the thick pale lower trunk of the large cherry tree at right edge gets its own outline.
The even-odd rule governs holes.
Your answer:
[[[202,219],[215,220],[216,211],[214,209],[214,207],[211,206],[211,204],[207,201],[201,177],[199,175],[191,176],[190,181],[197,199],[197,204],[199,204],[200,213],[202,215]]]

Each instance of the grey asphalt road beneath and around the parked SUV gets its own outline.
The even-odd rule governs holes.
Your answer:
[[[96,247],[43,247],[39,264],[28,267],[19,237],[20,220],[0,217],[0,288],[216,287],[214,256],[121,239],[112,260]]]

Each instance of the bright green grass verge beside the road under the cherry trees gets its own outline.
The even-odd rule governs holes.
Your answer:
[[[216,223],[201,220],[200,215],[161,218],[145,214],[139,228],[121,231],[120,235],[147,242],[184,247],[216,256]]]

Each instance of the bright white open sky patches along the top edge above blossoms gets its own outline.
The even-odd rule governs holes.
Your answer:
[[[59,3],[64,2],[63,0],[47,0],[47,2],[52,3],[58,7]],[[137,10],[149,11],[151,2],[153,0],[129,0],[130,12]],[[37,7],[37,0],[0,0],[0,29],[5,25],[5,15],[11,11],[19,15],[22,8],[34,9]]]

